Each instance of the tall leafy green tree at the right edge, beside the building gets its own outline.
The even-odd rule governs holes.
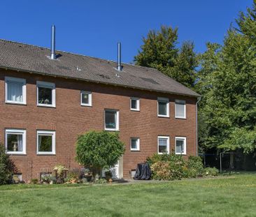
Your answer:
[[[248,13],[240,13],[238,27],[227,31],[222,46],[208,43],[207,51],[201,55],[196,89],[203,95],[199,105],[203,120],[199,142],[204,149],[255,151],[255,6],[256,1]]]

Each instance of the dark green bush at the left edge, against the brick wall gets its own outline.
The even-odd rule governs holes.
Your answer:
[[[15,172],[17,169],[13,160],[6,154],[3,144],[0,144],[0,185],[10,183]]]

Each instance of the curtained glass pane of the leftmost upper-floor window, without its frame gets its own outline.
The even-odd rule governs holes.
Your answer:
[[[7,82],[7,100],[23,102],[21,82]]]

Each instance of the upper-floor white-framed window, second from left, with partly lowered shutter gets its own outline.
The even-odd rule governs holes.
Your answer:
[[[55,107],[55,84],[49,82],[36,82],[37,105]]]

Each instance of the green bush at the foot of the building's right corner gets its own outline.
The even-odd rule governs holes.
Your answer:
[[[187,177],[202,177],[204,175],[204,165],[199,156],[189,156],[187,159]]]

